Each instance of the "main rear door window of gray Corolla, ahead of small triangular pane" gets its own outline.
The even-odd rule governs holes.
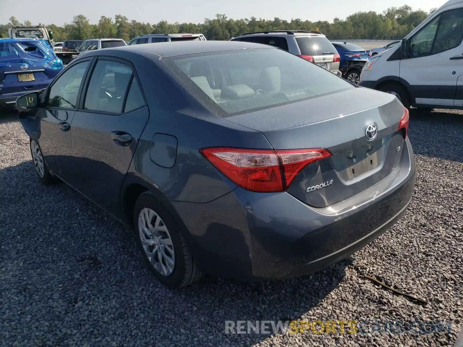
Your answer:
[[[122,113],[125,93],[131,78],[131,67],[120,62],[98,61],[88,83],[84,109]]]

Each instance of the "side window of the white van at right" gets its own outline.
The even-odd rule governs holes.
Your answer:
[[[430,56],[458,47],[463,38],[463,9],[441,13],[423,27],[410,42],[414,57]]]

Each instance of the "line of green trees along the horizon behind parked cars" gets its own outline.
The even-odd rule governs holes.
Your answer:
[[[413,11],[410,6],[389,7],[382,13],[356,12],[345,20],[335,18],[332,23],[328,21],[311,22],[302,19],[291,21],[274,18],[273,20],[257,19],[230,19],[225,14],[217,14],[216,18],[204,20],[204,23],[168,23],[165,20],[157,24],[138,22],[127,19],[118,14],[113,18],[102,16],[98,24],[90,21],[82,14],[74,16],[69,24],[58,26],[45,25],[54,35],[54,41],[86,40],[89,38],[122,38],[130,41],[133,37],[158,33],[203,33],[208,40],[228,40],[244,32],[264,30],[308,30],[321,31],[329,39],[376,39],[396,40],[406,36],[414,27],[419,25],[429,14],[421,9]],[[15,25],[31,25],[29,20],[20,23],[11,17],[9,23],[0,25],[2,37],[7,37],[9,28]],[[37,23],[37,25],[43,25]]]

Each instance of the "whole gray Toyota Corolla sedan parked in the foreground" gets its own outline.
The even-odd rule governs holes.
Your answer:
[[[399,100],[267,45],[96,50],[16,107],[39,179],[133,228],[171,288],[201,273],[316,271],[385,232],[412,197]]]

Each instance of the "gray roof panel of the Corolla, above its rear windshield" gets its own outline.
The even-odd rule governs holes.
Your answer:
[[[131,46],[117,47],[113,50],[144,50],[156,53],[159,56],[181,56],[185,54],[216,52],[221,50],[240,50],[250,48],[276,49],[273,46],[242,42],[242,41],[177,41],[134,44]]]

